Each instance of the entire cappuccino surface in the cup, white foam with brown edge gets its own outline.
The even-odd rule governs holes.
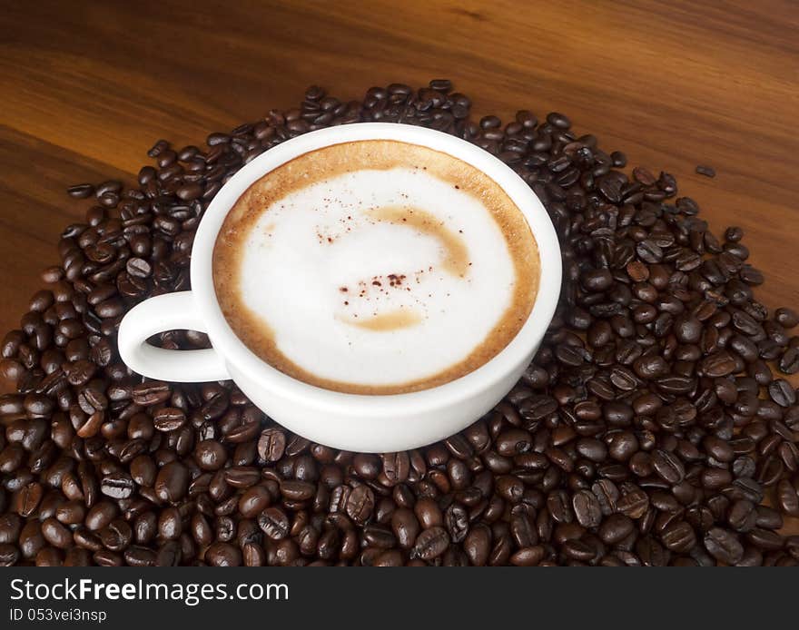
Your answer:
[[[242,194],[213,253],[232,330],[291,377],[389,394],[457,379],[527,320],[538,248],[501,187],[397,141],[326,147]]]

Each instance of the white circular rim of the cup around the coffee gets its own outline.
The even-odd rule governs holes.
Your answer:
[[[222,222],[250,185],[285,162],[339,143],[394,140],[419,144],[468,162],[508,194],[524,215],[538,244],[538,293],[527,320],[505,348],[478,369],[442,385],[400,394],[352,394],[322,389],[273,368],[240,340],[225,320],[212,281],[212,252]],[[286,399],[308,402],[320,411],[352,417],[380,417],[447,407],[469,399],[496,384],[523,362],[543,339],[560,294],[562,263],[557,233],[549,215],[528,184],[506,163],[457,136],[402,123],[352,123],[304,133],[278,144],[245,164],[225,182],[206,209],[192,244],[192,294],[207,327],[213,348],[222,354],[232,379],[242,373],[261,388],[280,392]]]

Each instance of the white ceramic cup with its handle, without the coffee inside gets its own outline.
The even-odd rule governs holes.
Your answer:
[[[242,193],[266,173],[303,153],[360,140],[419,144],[469,162],[508,193],[538,242],[541,277],[528,320],[496,357],[439,387],[370,396],[321,389],[293,379],[239,340],[216,300],[213,246],[222,221]],[[119,351],[131,369],[151,379],[181,382],[233,379],[267,415],[305,438],[333,448],[390,452],[447,438],[482,417],[508,393],[533,358],[555,312],[561,260],[547,211],[505,163],[448,133],[396,123],[358,123],[293,138],[237,172],[217,192],[202,218],[194,238],[191,275],[191,291],[144,300],[125,315],[119,328]],[[146,343],[164,330],[206,332],[212,349],[169,350]]]

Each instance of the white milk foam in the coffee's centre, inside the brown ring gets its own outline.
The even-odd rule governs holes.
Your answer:
[[[512,300],[498,222],[422,169],[346,172],[264,211],[242,241],[239,299],[320,379],[426,379],[469,357]]]

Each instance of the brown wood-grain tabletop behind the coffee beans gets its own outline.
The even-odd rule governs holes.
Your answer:
[[[477,113],[567,113],[631,165],[674,173],[716,233],[745,229],[758,299],[799,307],[797,32],[793,0],[6,2],[0,330],[82,220],[68,185],[133,182],[155,140],[202,143],[308,84],[349,99],[437,77]]]

